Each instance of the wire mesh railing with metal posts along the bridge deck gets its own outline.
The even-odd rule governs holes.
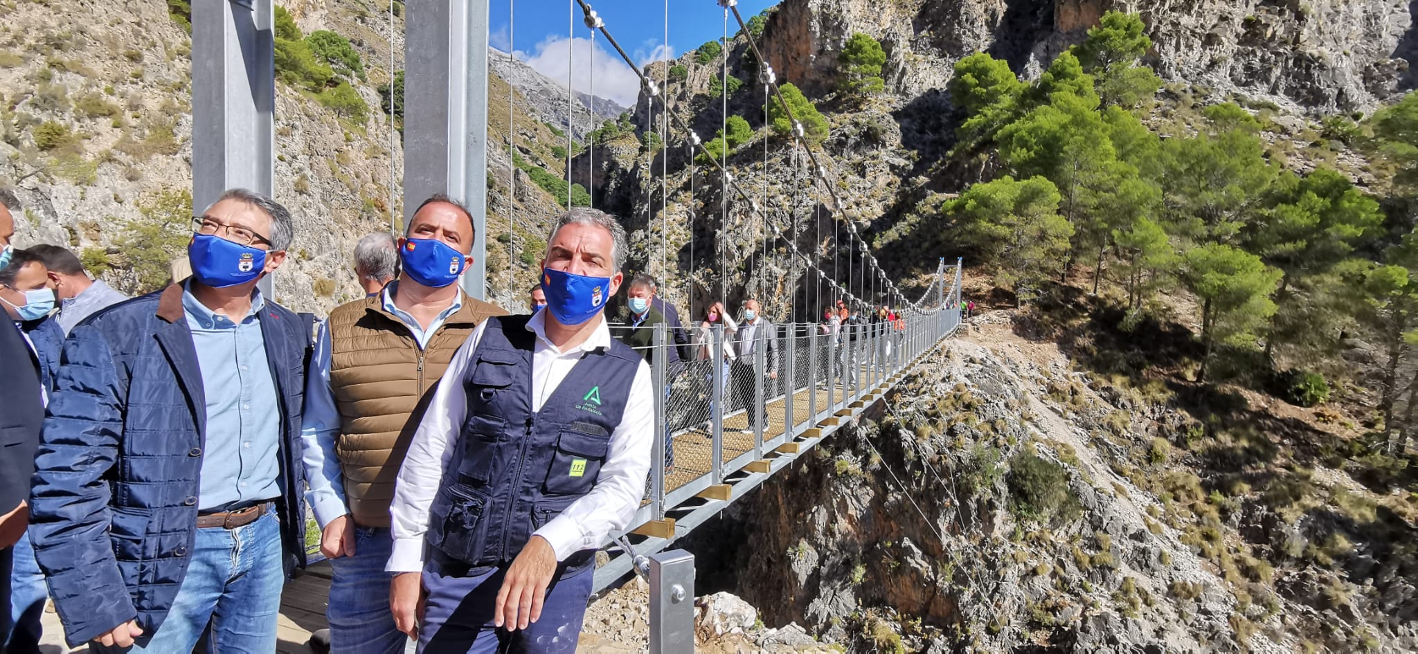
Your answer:
[[[624,336],[649,329],[637,350],[664,389],[655,404],[654,461],[631,532],[691,502],[709,487],[744,471],[786,443],[886,387],[891,377],[960,326],[960,275],[942,271],[929,312],[889,319],[825,323],[740,323],[703,329],[676,348],[671,328],[614,325]],[[699,328],[691,328],[699,329]]]

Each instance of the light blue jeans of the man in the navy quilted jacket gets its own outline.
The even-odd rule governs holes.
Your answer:
[[[274,514],[235,529],[197,529],[187,576],[163,624],[138,637],[129,650],[89,647],[101,653],[187,653],[210,623],[204,651],[271,654],[284,586],[281,523]]]

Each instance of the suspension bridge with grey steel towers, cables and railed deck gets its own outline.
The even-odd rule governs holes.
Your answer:
[[[403,179],[398,180],[391,166],[389,180],[391,197],[398,197],[393,192],[401,187],[403,197],[413,200],[403,203],[406,220],[418,206],[417,199],[432,193],[447,193],[471,209],[478,241],[474,264],[462,284],[478,298],[488,294],[489,274],[498,274],[485,268],[488,149],[502,148],[502,143],[488,142],[486,131],[489,112],[501,111],[488,105],[491,1],[498,0],[428,0],[406,6],[406,96],[418,101],[406,105]],[[506,1],[512,17],[518,3]],[[743,173],[744,167],[739,167],[742,176],[730,170],[730,155],[746,156],[744,149],[732,153],[725,146],[710,152],[681,108],[671,105],[668,54],[658,67],[642,70],[615,41],[614,26],[605,24],[586,0],[567,1],[567,33],[586,35],[593,43],[604,38],[640,77],[640,106],[635,108],[644,111],[640,129],[655,133],[662,150],[658,157],[652,153],[651,163],[641,169],[644,194],[637,199],[637,210],[644,213],[648,238],[658,237],[658,257],[645,261],[645,272],[665,281],[661,295],[686,309],[686,329],[692,331],[698,325],[693,316],[702,315],[709,302],[719,301],[727,308],[730,298],[753,296],[763,304],[764,318],[773,321],[773,329],[756,331],[756,345],[749,349],[752,362],[737,363],[752,366],[752,375],[737,375],[725,362],[733,359],[743,343],[736,343],[735,335],[722,325],[709,328],[702,342],[682,352],[685,360],[678,365],[669,363],[666,356],[676,348],[674,335],[668,328],[655,328],[654,345],[645,348],[649,350],[645,355],[654,362],[655,384],[666,389],[657,396],[655,404],[657,434],[666,437],[655,438],[654,460],[664,461],[669,448],[674,467],[652,467],[634,521],[624,533],[604,543],[610,558],[596,572],[597,590],[623,582],[637,569],[645,572],[645,556],[665,550],[849,424],[960,325],[959,261],[949,265],[939,261],[929,288],[908,298],[882,270],[858,227],[844,217],[847,200],[838,189],[845,187],[841,184],[844,176],[854,173],[807,138],[800,116],[793,115],[783,96],[773,62],[747,28],[736,0],[692,1],[716,1],[723,10],[725,47],[716,64],[725,89],[719,98],[725,133],[730,67],[739,67],[743,57],[756,62],[756,84],[746,92],[761,92],[763,98],[763,122],[753,142],[756,146],[761,139],[763,146],[759,179]],[[250,187],[279,199],[274,193],[272,0],[194,0],[191,10],[194,204],[206,206],[228,187]],[[645,20],[652,18],[647,11]],[[665,43],[669,21],[665,0]],[[390,72],[394,68],[394,3],[390,3]],[[569,71],[576,70],[574,60],[569,61]],[[658,72],[659,78],[652,78],[651,72]],[[577,87],[573,75],[570,72],[566,79],[569,89]],[[588,82],[594,95],[594,78]],[[576,112],[573,96],[567,94],[567,126]],[[771,105],[780,108],[790,126],[777,138],[769,116]],[[506,111],[513,125],[510,92]],[[588,172],[579,177],[571,132],[566,131],[566,204],[573,203],[571,186],[581,182],[590,189],[594,204],[596,143],[587,139]],[[505,143],[512,186],[505,216],[508,231],[513,234],[506,244],[509,267],[516,261],[513,227],[536,223],[518,216],[516,203],[510,201],[518,179],[512,165],[516,138],[518,131],[510,129]],[[781,166],[787,170],[770,170],[770,152],[783,155],[784,150]],[[770,193],[769,177],[774,174],[790,180],[787,192]],[[678,182],[681,179],[688,179],[688,187]],[[676,211],[671,211],[671,197],[675,197]],[[397,224],[394,204],[390,203],[391,230]],[[688,243],[669,241],[672,223],[691,227]],[[713,247],[696,250],[695,226],[709,227],[715,234]],[[753,244],[756,253],[750,261],[730,261],[743,254],[730,251],[726,245],[730,238]],[[774,274],[781,278],[771,278]],[[510,270],[508,277],[510,279]],[[269,292],[269,279],[265,284]],[[834,333],[817,318],[837,301],[864,314],[885,305],[898,321],[854,325]],[[674,560],[665,559],[665,565],[669,563]],[[692,579],[692,560],[689,570]],[[674,575],[661,582],[666,589],[676,582],[686,583],[685,577]],[[328,576],[316,570],[288,587],[282,651],[306,651],[302,634],[323,626],[325,584]],[[678,602],[682,603],[682,597]],[[682,641],[685,634],[683,624],[671,617],[652,628],[659,631],[652,634],[655,648],[668,647],[676,637]],[[692,645],[692,634],[689,643]]]

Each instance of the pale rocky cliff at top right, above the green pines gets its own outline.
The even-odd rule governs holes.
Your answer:
[[[1035,77],[1115,9],[1143,16],[1167,81],[1314,113],[1371,111],[1415,84],[1411,0],[786,0],[766,55],[780,78],[825,91],[838,50],[864,31],[886,50],[888,87],[913,98],[977,51]]]

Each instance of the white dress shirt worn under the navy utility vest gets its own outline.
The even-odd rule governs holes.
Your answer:
[[[527,331],[536,333],[536,348],[532,353],[532,411],[540,411],[542,404],[562,384],[566,375],[576,367],[581,356],[597,348],[611,346],[611,332],[601,321],[580,346],[562,352],[546,339],[546,311],[536,312],[527,321]],[[454,355],[445,379],[461,380],[474,363],[478,343],[488,323],[474,329],[468,342]],[[458,431],[468,413],[467,392],[461,383],[442,383],[424,413],[408,455],[398,471],[394,487],[394,502],[390,506],[390,529],[394,549],[389,558],[389,572],[421,572],[424,569],[424,533],[428,531],[428,509],[438,494],[444,468],[457,451]],[[583,550],[601,546],[613,531],[624,529],[640,506],[645,494],[645,477],[649,474],[651,447],[655,434],[655,392],[651,383],[649,365],[640,362],[635,379],[631,382],[630,397],[620,426],[611,433],[610,451],[605,464],[596,477],[596,485],[581,499],[577,499],[562,515],[536,531],[552,543],[557,560]]]

